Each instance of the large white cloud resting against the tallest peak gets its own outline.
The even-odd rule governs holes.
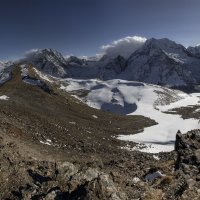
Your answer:
[[[128,58],[134,51],[140,48],[147,39],[139,36],[128,36],[113,41],[111,44],[103,45],[101,50],[109,57],[121,55]]]

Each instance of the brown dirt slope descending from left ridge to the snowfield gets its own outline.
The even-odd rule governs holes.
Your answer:
[[[29,71],[37,77],[31,66]],[[23,199],[20,188],[30,183],[30,170],[47,166],[49,173],[57,162],[112,172],[124,187],[146,163],[155,164],[151,155],[120,149],[126,142],[115,138],[154,125],[153,120],[92,109],[56,84],[46,84],[48,90],[24,83],[15,66],[12,79],[0,87],[0,95],[9,97],[0,101],[0,199]]]

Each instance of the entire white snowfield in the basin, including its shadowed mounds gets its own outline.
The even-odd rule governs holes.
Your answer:
[[[67,79],[66,81],[69,85],[67,87],[62,85],[61,89],[90,91],[82,100],[91,107],[126,115],[143,115],[154,119],[158,124],[145,128],[141,133],[118,136],[120,140],[146,145],[142,149],[136,147],[137,150],[148,153],[172,151],[178,130],[186,133],[189,130],[200,128],[199,121],[196,119],[184,120],[176,113],[163,113],[163,111],[173,108],[199,104],[198,96],[200,94],[198,93],[188,95],[177,92],[176,96],[182,97],[181,100],[155,107],[155,101],[158,99],[158,94],[155,91],[164,91],[164,88],[160,86],[119,79],[109,81]],[[129,148],[127,147],[127,149]]]

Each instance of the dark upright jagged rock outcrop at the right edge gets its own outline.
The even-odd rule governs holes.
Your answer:
[[[200,198],[200,130],[176,135],[176,173],[181,182],[176,187],[181,199]]]

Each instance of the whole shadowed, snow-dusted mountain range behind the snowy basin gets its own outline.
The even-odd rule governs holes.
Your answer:
[[[122,78],[165,86],[188,86],[200,83],[199,47],[186,49],[169,39],[149,39],[125,59],[121,55],[104,55],[99,61],[71,56],[68,59],[55,50],[43,49],[28,55],[24,61],[56,77],[79,79]]]

